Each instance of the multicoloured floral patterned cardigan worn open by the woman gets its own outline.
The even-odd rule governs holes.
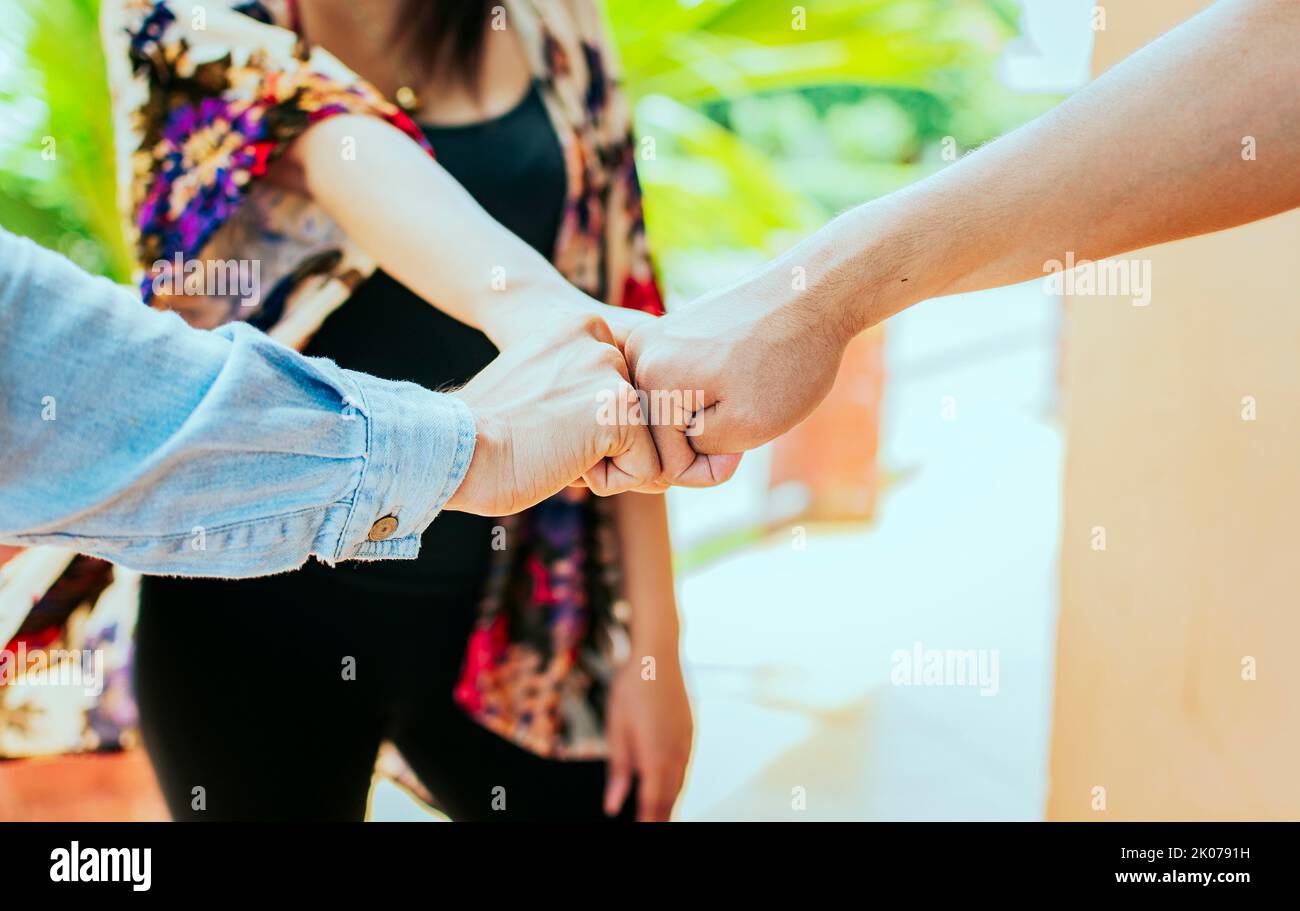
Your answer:
[[[629,114],[594,0],[503,5],[564,152],[556,269],[608,304],[660,313]],[[101,8],[118,188],[144,299],[196,326],[240,318],[302,347],[376,266],[311,199],[261,181],[268,164],[308,126],[339,113],[381,117],[428,144],[372,86],[324,48],[306,47],[295,18],[289,0],[104,0]],[[155,287],[166,287],[155,279],[166,281],[178,256],[257,260],[257,304],[240,305],[235,290],[155,298]],[[537,754],[601,756],[628,616],[608,508],[571,491],[506,528],[510,546],[495,552],[455,699]],[[69,573],[112,572],[87,560],[78,558]],[[60,589],[83,598],[86,586],[51,589],[42,599],[49,613],[60,613],[49,603]],[[30,619],[25,630],[34,634]]]

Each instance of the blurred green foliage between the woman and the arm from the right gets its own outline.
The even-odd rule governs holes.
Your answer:
[[[771,252],[1058,99],[996,78],[1015,0],[608,0],[660,260]],[[653,139],[647,144],[646,139]]]

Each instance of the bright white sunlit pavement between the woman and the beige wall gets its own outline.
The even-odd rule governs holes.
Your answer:
[[[680,817],[1041,817],[1057,308],[1022,286],[892,321],[881,459],[900,477],[876,524],[810,526],[803,550],[779,532],[682,581],[697,737]],[[714,495],[675,511],[711,521]],[[918,642],[996,650],[996,695],[892,685]]]

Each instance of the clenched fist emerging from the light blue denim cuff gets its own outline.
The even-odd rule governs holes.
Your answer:
[[[473,412],[478,441],[447,509],[512,515],[578,478],[601,496],[658,490],[659,460],[646,426],[598,420],[602,394],[636,403],[608,326],[595,316],[550,324],[454,392]]]

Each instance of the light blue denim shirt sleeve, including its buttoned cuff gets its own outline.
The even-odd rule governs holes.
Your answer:
[[[474,439],[454,396],[191,329],[0,230],[0,541],[181,576],[413,558]]]

